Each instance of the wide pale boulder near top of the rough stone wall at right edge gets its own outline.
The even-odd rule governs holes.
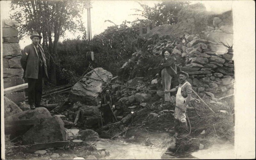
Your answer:
[[[233,46],[233,34],[227,34],[223,32],[206,32],[206,40],[223,44],[228,47]]]

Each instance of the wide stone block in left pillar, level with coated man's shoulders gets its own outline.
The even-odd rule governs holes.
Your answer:
[[[5,56],[20,56],[20,45],[19,43],[5,43],[3,44],[3,57]]]

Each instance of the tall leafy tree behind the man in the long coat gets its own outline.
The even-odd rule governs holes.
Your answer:
[[[59,65],[57,45],[65,31],[80,31],[86,35],[81,15],[85,7],[84,1],[52,1],[31,0],[12,1],[12,10],[16,12],[11,16],[18,21],[20,38],[31,35],[37,31],[43,37],[43,47],[46,57],[50,58],[50,75],[52,83],[56,85],[56,65]],[[83,38],[86,38],[84,36]]]

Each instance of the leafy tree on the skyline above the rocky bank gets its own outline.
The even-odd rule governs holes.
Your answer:
[[[156,26],[162,24],[176,24],[178,21],[178,12],[189,4],[188,1],[161,1],[160,3],[156,3],[153,7],[149,7],[146,4],[142,4],[140,2],[138,3],[143,10],[134,10],[142,13],[132,15],[140,15],[147,18],[147,20],[150,20],[151,22],[155,21]],[[145,20],[137,19],[136,21],[140,21],[145,25]]]

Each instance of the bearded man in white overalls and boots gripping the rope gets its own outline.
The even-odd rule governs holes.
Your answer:
[[[183,129],[188,131],[188,124],[186,120],[186,110],[188,103],[191,99],[192,87],[191,84],[187,81],[188,73],[180,71],[177,73],[179,75],[180,84],[179,86],[166,91],[166,93],[176,92],[176,106],[174,110],[174,129],[169,130],[171,134],[179,132],[180,124]],[[179,107],[179,108],[178,108]]]

